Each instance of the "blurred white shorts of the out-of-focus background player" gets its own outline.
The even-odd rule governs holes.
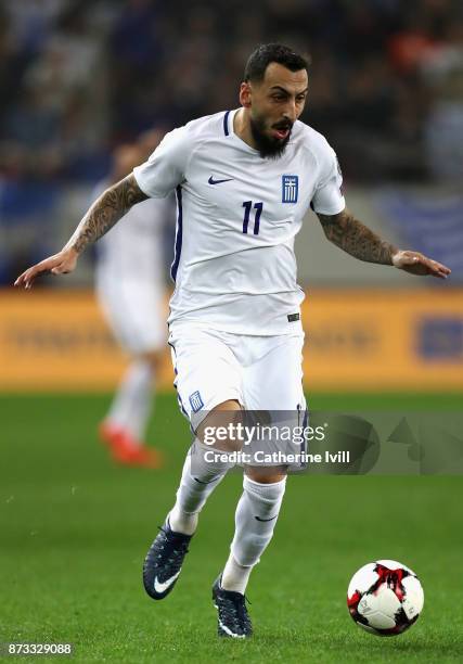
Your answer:
[[[162,290],[150,281],[118,277],[98,279],[97,294],[105,318],[130,355],[165,346],[167,329]]]

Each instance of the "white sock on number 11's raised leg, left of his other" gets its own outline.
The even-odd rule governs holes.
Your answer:
[[[169,524],[175,533],[193,535],[207,498],[233,465],[227,461],[206,461],[206,451],[211,451],[211,448],[196,438],[187,455],[176,505],[169,513]]]

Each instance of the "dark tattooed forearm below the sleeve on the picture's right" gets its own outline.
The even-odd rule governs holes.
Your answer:
[[[338,215],[318,217],[330,242],[351,256],[368,263],[393,265],[393,255],[397,248],[358,221],[348,209]]]

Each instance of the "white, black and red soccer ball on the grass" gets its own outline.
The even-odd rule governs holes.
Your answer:
[[[347,589],[352,620],[377,636],[402,634],[417,621],[423,602],[416,574],[395,560],[363,565]]]

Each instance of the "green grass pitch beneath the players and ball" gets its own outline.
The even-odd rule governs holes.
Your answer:
[[[0,641],[72,642],[78,662],[463,661],[461,477],[290,478],[248,587],[255,636],[218,640],[210,586],[241,477],[213,495],[175,592],[153,602],[141,564],[172,503],[189,429],[175,397],[160,395],[150,439],[166,467],[115,468],[95,436],[108,398],[0,397]],[[311,406],[461,408],[461,395],[319,395]],[[417,624],[390,639],[363,633],[346,609],[351,574],[377,558],[412,566],[425,590]]]

